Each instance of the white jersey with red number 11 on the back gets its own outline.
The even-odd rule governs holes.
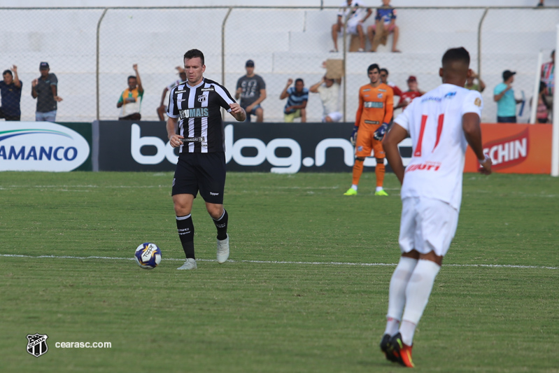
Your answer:
[[[406,167],[402,199],[440,199],[460,210],[467,141],[462,116],[481,117],[478,91],[443,84],[411,101],[394,120],[411,137],[412,157]]]

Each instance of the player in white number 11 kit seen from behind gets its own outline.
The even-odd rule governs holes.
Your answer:
[[[481,94],[464,88],[470,74],[467,50],[447,50],[439,70],[443,84],[413,100],[383,140],[388,163],[402,183],[402,257],[390,280],[381,351],[405,367],[413,367],[413,333],[458,225],[468,144],[480,172],[491,173],[481,143]],[[404,170],[398,143],[407,136],[412,157]]]

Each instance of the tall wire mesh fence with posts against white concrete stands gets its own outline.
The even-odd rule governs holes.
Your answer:
[[[374,23],[373,14],[364,28]],[[34,120],[36,101],[31,80],[45,61],[58,78],[57,121],[90,122],[118,118],[118,98],[127,76],[138,64],[145,94],[143,120],[157,120],[164,87],[176,80],[175,67],[186,50],[198,48],[206,56],[207,78],[229,92],[245,73],[247,59],[267,84],[262,102],[265,122],[283,121],[285,100],[279,96],[288,78],[302,78],[310,87],[324,75],[326,59],[344,59],[340,103],[346,121],[355,118],[358,89],[368,83],[367,66],[377,63],[390,72],[389,80],[406,90],[413,75],[420,90],[441,83],[440,59],[447,48],[464,46],[472,69],[481,74],[483,121],[493,122],[493,87],[502,71],[516,71],[514,90],[530,99],[537,73],[538,53],[544,62],[555,45],[559,8],[398,8],[398,48],[387,45],[376,52],[330,52],[331,27],[337,8],[0,8],[2,54],[0,68],[17,65],[23,83],[22,120]],[[339,39],[339,45],[344,42]],[[349,36],[346,47],[350,44]],[[369,48],[367,40],[367,48]],[[526,109],[522,121],[527,121]],[[318,94],[310,94],[307,120],[320,121]]]

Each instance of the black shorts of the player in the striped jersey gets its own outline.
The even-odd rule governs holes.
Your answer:
[[[176,164],[172,195],[200,195],[211,204],[223,204],[225,153],[181,153]]]

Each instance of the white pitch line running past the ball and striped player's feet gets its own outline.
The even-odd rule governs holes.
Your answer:
[[[102,260],[134,260],[134,258],[118,258],[110,256],[70,256],[70,255],[17,255],[0,254],[4,258],[33,258],[33,259],[102,259]],[[183,262],[184,259],[164,258],[164,261]],[[215,259],[197,259],[199,262],[215,262]],[[278,260],[227,260],[228,262],[261,263],[273,265],[355,265],[360,267],[395,267],[396,263],[351,263],[351,262],[284,262]],[[536,268],[536,269],[559,269],[559,267],[542,267],[535,265],[444,265],[444,267],[489,267],[489,268]]]

